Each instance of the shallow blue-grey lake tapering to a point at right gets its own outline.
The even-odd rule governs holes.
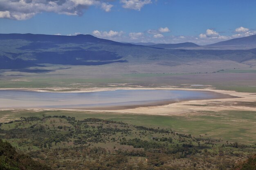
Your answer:
[[[116,90],[52,93],[0,90],[0,108],[84,108],[153,106],[184,100],[227,98],[211,91]]]

